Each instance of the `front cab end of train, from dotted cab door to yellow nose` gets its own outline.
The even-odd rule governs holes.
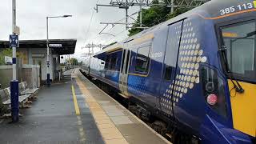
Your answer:
[[[192,11],[186,19],[168,25],[171,39],[166,58],[171,54],[168,49],[176,47],[172,41],[177,38],[172,36],[181,37],[177,63],[174,60],[172,66],[176,70],[170,73],[174,76],[170,85],[162,85],[160,110],[202,143],[252,143],[256,135],[256,2],[214,2],[217,5],[205,6],[210,14]],[[222,14],[234,6],[238,11]],[[164,65],[163,77],[168,75],[168,63]]]

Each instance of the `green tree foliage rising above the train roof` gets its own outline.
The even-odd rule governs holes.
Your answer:
[[[154,1],[155,4],[158,4],[158,0]],[[142,24],[143,26],[151,27],[158,25],[161,22],[165,22],[166,20],[169,20],[170,18],[174,18],[178,16],[179,14],[185,13],[187,8],[179,8],[175,9],[173,14],[170,14],[170,8],[166,6],[151,6],[149,9],[143,9],[142,10]],[[134,34],[138,34],[142,31],[142,29],[138,29],[135,27],[138,27],[139,25],[139,16],[137,18],[137,21],[133,25],[134,28],[129,30],[129,36],[132,36]]]

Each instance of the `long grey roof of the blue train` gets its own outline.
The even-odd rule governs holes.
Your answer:
[[[134,34],[134,36],[126,38],[122,42],[118,42],[112,46],[106,47],[106,49],[104,49],[98,53],[102,53],[102,52],[112,50],[112,49],[117,49],[118,47],[120,48],[120,47],[122,47],[123,43],[132,41],[136,38],[140,38],[146,34],[154,33],[155,30],[160,29],[162,26],[166,26],[173,22],[178,22],[184,18],[190,18],[194,15],[198,15],[201,18],[212,20],[214,22],[214,21],[218,21],[218,19],[226,18],[226,16],[232,16],[234,14],[241,14],[244,12],[256,11],[256,9],[255,9],[256,3],[255,3],[255,6],[251,10],[235,10],[232,14],[224,14],[224,15],[222,15],[222,13],[221,13],[221,10],[225,10],[226,8],[230,8],[232,6],[237,7],[238,5],[248,4],[248,3],[254,4],[254,1],[253,0],[243,0],[243,1],[241,1],[241,0],[211,0],[210,2],[206,2],[202,6],[198,6],[192,10],[187,11],[184,14],[180,14],[177,17],[171,18],[170,20],[168,20],[166,22],[162,22],[156,26],[150,27],[147,30],[143,30],[142,32],[140,32],[138,34]]]

